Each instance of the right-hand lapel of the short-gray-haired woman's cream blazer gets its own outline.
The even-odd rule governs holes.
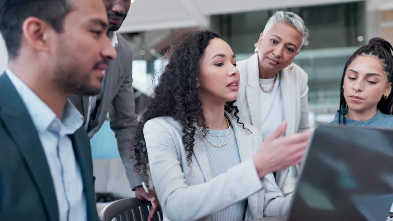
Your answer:
[[[283,98],[284,119],[288,122],[285,134],[290,135],[295,132],[296,94],[295,86],[286,68],[280,74],[281,96]]]

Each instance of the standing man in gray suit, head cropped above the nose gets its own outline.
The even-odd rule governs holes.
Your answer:
[[[108,62],[103,90],[97,96],[70,95],[70,100],[84,115],[84,128],[89,138],[101,128],[109,112],[110,127],[114,131],[119,155],[132,190],[138,199],[158,204],[153,189],[152,195],[145,192],[141,182],[148,184],[146,176],[136,175],[132,141],[138,116],[135,113],[134,90],[132,88],[132,50],[129,42],[116,31],[120,28],[130,9],[130,0],[103,0],[109,20],[108,37],[118,53],[118,58]],[[157,208],[157,207],[154,207]],[[151,214],[154,214],[154,210]]]

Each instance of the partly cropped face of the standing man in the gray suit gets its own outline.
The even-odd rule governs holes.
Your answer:
[[[130,9],[131,0],[103,0],[107,9],[109,31],[117,31]]]

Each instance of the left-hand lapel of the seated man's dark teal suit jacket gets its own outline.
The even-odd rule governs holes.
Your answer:
[[[17,90],[7,74],[0,76],[0,103],[5,126],[13,136],[26,160],[33,180],[42,197],[42,204],[51,221],[59,220],[55,188],[39,134]],[[4,105],[6,104],[6,105]]]

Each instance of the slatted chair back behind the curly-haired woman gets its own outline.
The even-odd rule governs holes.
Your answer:
[[[149,201],[137,198],[116,200],[103,208],[99,216],[101,221],[147,221],[152,205]],[[153,221],[162,221],[162,213],[156,212]]]

